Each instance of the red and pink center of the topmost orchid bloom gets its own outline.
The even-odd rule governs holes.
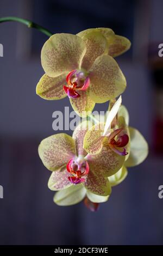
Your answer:
[[[90,78],[82,70],[72,70],[66,77],[67,85],[64,91],[68,97],[80,97],[79,91],[86,90],[90,85]]]

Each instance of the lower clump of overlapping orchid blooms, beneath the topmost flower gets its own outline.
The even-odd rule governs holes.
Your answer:
[[[59,133],[41,142],[39,155],[52,171],[48,187],[58,191],[54,196],[58,205],[72,205],[84,200],[90,210],[96,211],[98,203],[108,200],[111,187],[126,178],[126,167],[140,163],[136,156],[141,146],[143,152],[146,148],[141,161],[145,159],[146,141],[138,131],[128,127],[128,112],[120,106],[121,97],[111,108],[105,124],[92,125],[91,121],[83,121],[72,137]],[[110,127],[115,119],[115,130],[112,131]],[[139,147],[132,144],[133,135],[142,142]]]

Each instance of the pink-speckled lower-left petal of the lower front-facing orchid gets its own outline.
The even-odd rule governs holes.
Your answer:
[[[52,191],[58,191],[72,186],[72,183],[68,180],[68,176],[70,176],[70,173],[67,172],[66,167],[55,170],[48,180],[48,188]]]

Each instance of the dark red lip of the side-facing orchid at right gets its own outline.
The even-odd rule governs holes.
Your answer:
[[[123,129],[117,129],[113,131],[110,136],[108,137],[109,140],[109,145],[111,149],[117,153],[118,155],[126,156],[128,153],[126,152],[126,149],[124,148],[128,142],[129,142],[129,137],[127,134],[124,134],[115,140],[115,137],[117,135],[120,135],[120,133],[123,131]],[[119,150],[118,148],[123,148],[123,151]]]

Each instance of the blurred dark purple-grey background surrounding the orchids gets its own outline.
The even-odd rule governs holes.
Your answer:
[[[109,27],[130,39],[131,49],[116,58],[127,79],[123,104],[130,126],[149,142],[149,156],[129,169],[107,203],[92,213],[83,203],[53,203],[51,174],[37,147],[55,132],[52,113],[70,106],[66,97],[46,101],[35,94],[43,74],[40,51],[47,36],[16,22],[0,24],[0,199],[1,245],[160,245],[163,244],[163,2],[161,0],[1,0],[0,17],[33,20],[54,33],[76,34]],[[105,105],[96,105],[104,110]],[[71,134],[71,132],[70,132]]]

